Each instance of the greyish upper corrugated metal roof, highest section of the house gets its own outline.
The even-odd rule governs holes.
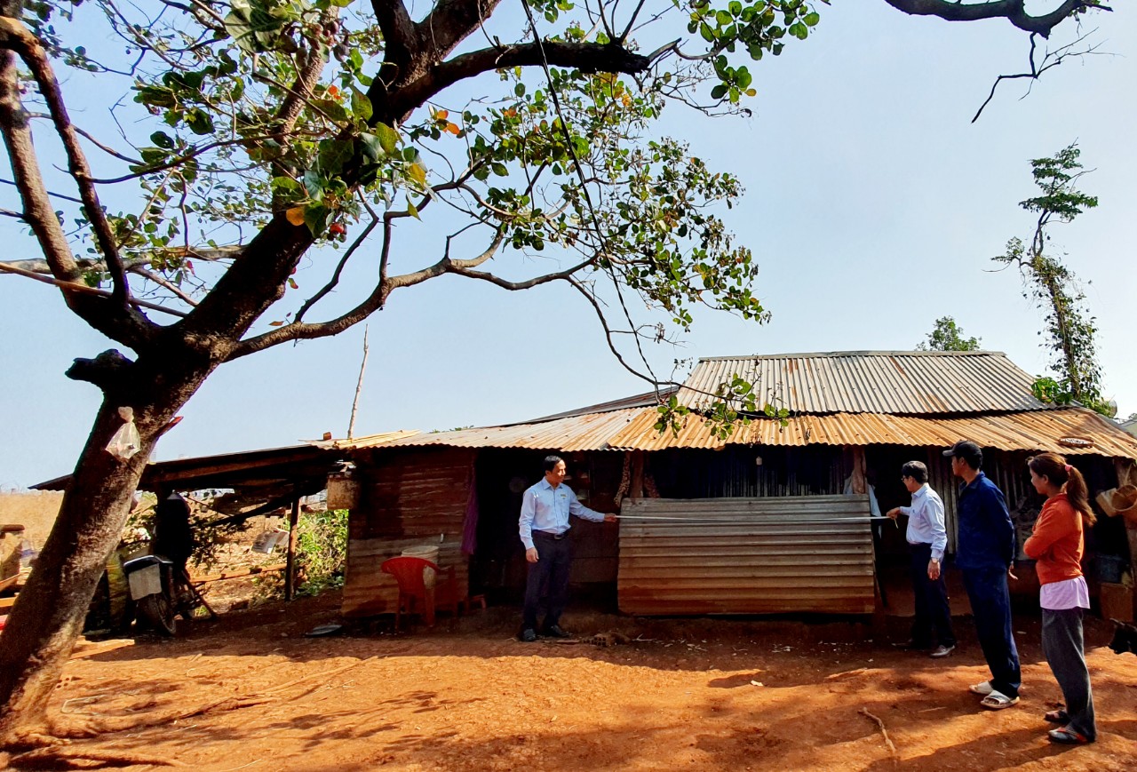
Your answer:
[[[739,375],[758,405],[791,413],[988,413],[1041,410],[1035,379],[1001,351],[833,351],[699,359],[679,401],[704,407]]]

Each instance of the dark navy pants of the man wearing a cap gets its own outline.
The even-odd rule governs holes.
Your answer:
[[[963,586],[971,600],[976,633],[984,658],[991,670],[991,688],[1014,698],[1022,686],[1019,650],[1011,630],[1011,593],[1006,587],[1006,568],[964,568]]]

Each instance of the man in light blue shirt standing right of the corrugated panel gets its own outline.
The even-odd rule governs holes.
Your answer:
[[[952,631],[952,607],[947,600],[947,583],[941,568],[947,549],[947,528],[944,522],[944,500],[928,484],[928,467],[920,462],[908,462],[901,467],[901,481],[912,493],[911,507],[894,507],[888,516],[896,520],[907,515],[905,538],[911,555],[912,589],[915,591],[916,613],[912,620],[913,649],[932,648],[932,633],[939,642],[932,649],[935,658],[946,657],[955,649]]]

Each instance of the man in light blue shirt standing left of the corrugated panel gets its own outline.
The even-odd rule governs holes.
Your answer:
[[[525,581],[525,606],[521,625],[521,640],[537,640],[537,613],[541,605],[541,586],[548,584],[548,604],[541,633],[551,638],[568,638],[561,628],[561,614],[568,600],[568,566],[572,546],[568,540],[568,516],[594,522],[616,522],[613,514],[592,512],[576,500],[576,495],[564,484],[567,470],[559,456],[545,459],[545,478],[530,485],[521,500],[518,531],[529,561]]]

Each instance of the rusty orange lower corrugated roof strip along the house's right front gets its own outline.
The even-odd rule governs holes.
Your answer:
[[[1094,454],[1137,458],[1137,438],[1117,424],[1084,407],[1067,407],[1029,413],[1005,413],[951,418],[866,413],[805,415],[787,418],[786,425],[773,418],[756,418],[737,425],[725,440],[714,437],[697,417],[691,417],[675,435],[655,430],[658,413],[642,410],[609,439],[614,448],[663,450],[666,448],[722,448],[729,443],[804,446],[822,445],[907,445],[952,446],[965,438],[985,448],[1001,450],[1052,450],[1063,455]],[[1068,447],[1061,438],[1082,438],[1090,447]]]

